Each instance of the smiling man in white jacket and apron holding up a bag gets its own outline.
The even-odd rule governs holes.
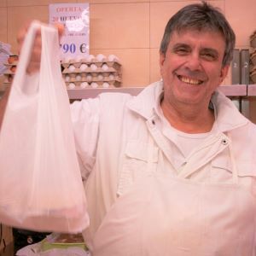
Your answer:
[[[218,91],[234,46],[218,9],[185,6],[166,25],[161,81],[72,104],[94,256],[254,255],[256,127]]]

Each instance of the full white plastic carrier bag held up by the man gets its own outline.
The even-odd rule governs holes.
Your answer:
[[[38,27],[40,72],[29,76],[26,67]],[[0,223],[77,233],[89,218],[58,52],[55,27],[33,22],[0,131]]]

